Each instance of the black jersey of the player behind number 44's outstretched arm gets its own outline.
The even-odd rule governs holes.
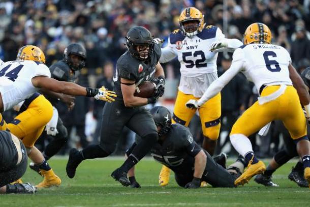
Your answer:
[[[78,72],[71,70],[68,64],[66,64],[63,60],[51,65],[49,70],[51,72],[51,78],[59,81],[75,82],[78,76]],[[52,105],[55,105],[58,102],[58,100],[53,97],[48,95],[44,96],[51,102]]]

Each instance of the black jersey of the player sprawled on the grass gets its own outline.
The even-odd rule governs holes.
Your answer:
[[[156,143],[151,156],[175,173],[193,173],[195,156],[202,150],[187,127],[172,124],[163,143]]]

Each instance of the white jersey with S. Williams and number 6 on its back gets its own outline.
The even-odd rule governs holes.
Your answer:
[[[241,72],[254,82],[257,90],[262,85],[292,85],[288,66],[292,62],[288,51],[277,45],[249,44],[235,50],[233,62],[243,62]]]

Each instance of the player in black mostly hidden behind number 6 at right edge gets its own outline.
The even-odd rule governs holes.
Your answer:
[[[301,73],[301,78],[305,85],[308,88],[308,91],[310,93],[310,67],[306,68]],[[306,117],[309,123],[309,117]],[[285,144],[285,148],[283,150],[278,151],[268,164],[266,171],[264,174],[259,174],[256,176],[255,181],[256,183],[262,184],[264,186],[269,187],[278,187],[276,183],[273,183],[272,181],[272,174],[275,172],[275,170],[285,163],[287,163],[290,159],[297,157],[298,153],[296,151],[296,144],[292,140],[289,132],[287,129],[285,129],[283,123],[276,122],[276,127],[280,129],[283,132],[283,140]],[[307,134],[309,134],[309,126],[307,127]],[[295,165],[295,167],[292,168],[292,171],[290,172],[288,178],[295,182],[299,187],[307,188],[309,186],[308,182],[304,179],[304,168],[301,161],[298,161]]]

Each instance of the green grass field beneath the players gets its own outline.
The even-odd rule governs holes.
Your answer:
[[[110,173],[123,159],[112,157],[84,161],[74,179],[66,175],[67,158],[49,161],[62,180],[60,187],[44,189],[36,195],[0,195],[0,206],[310,206],[310,190],[287,179],[294,162],[274,174],[278,188],[266,188],[251,180],[238,188],[182,189],[171,175],[170,184],[158,186],[161,165],[147,158],[137,165],[136,178],[141,189],[122,187]],[[267,164],[267,162],[265,162]],[[42,178],[28,169],[24,182],[38,184]]]

